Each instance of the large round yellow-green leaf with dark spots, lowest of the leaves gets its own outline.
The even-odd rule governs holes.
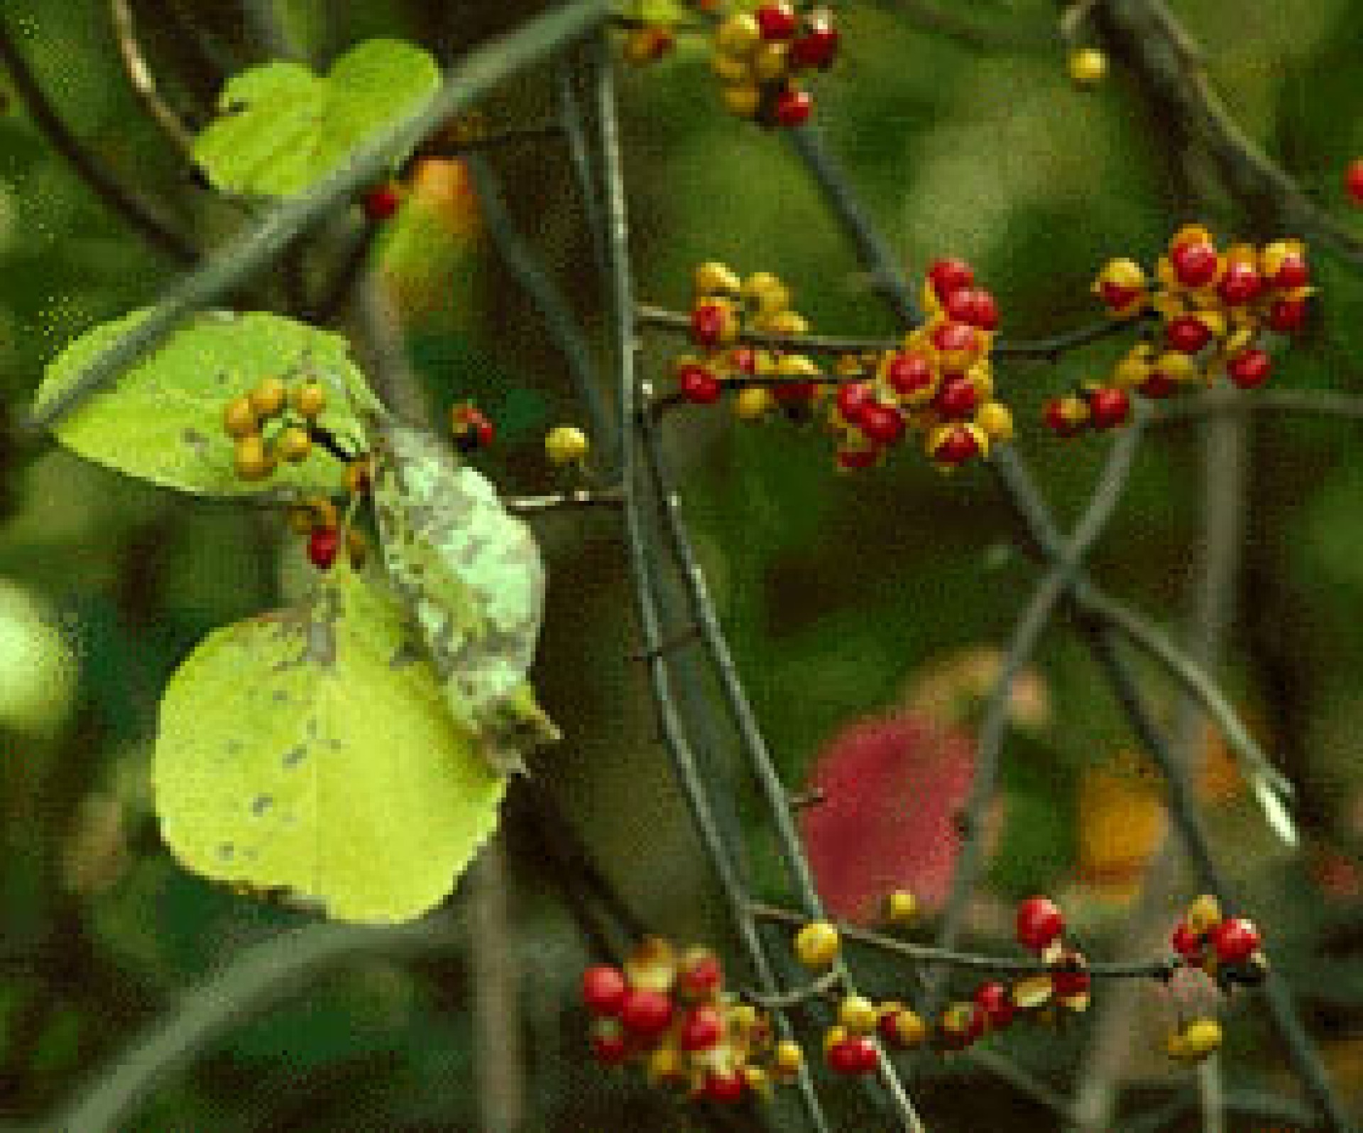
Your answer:
[[[409,921],[493,831],[474,754],[387,588],[338,562],[308,609],[209,635],[161,703],[161,832],[192,872],[342,921]]]

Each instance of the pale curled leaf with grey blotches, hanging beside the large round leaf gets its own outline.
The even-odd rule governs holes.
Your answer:
[[[375,417],[383,560],[421,629],[446,704],[499,769],[559,738],[526,681],[544,618],[530,528],[435,436]]]

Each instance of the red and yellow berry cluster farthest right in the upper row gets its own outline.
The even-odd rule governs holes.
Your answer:
[[[1264,334],[1296,334],[1311,294],[1306,249],[1298,240],[1262,248],[1234,244],[1224,252],[1205,227],[1186,225],[1169,241],[1154,283],[1135,260],[1109,260],[1093,291],[1119,319],[1154,312],[1152,330],[1112,370],[1111,380],[1085,383],[1045,407],[1059,436],[1111,429],[1131,415],[1131,391],[1168,398],[1193,381],[1225,373],[1242,389],[1269,380],[1273,360]]]

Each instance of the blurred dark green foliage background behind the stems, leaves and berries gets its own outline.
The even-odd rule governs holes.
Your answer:
[[[267,7],[135,0],[168,101],[191,121],[204,120],[226,74],[269,57]],[[1205,45],[1208,69],[1243,125],[1322,207],[1343,215],[1341,173],[1363,153],[1363,7],[1171,7]],[[448,57],[530,11],[435,0],[279,0],[274,8],[273,30],[323,63],[376,34],[425,42]],[[1204,218],[1223,238],[1278,234],[1251,229],[1201,162],[1169,151],[1120,57],[1107,83],[1079,91],[1059,42],[981,49],[923,26],[917,8],[893,0],[842,5],[844,56],[816,83],[818,125],[910,276],[920,278],[934,256],[966,257],[999,298],[1003,332],[1026,338],[1089,321],[1097,312],[1088,286],[1101,263],[1116,255],[1152,263],[1182,222]],[[1040,0],[990,0],[962,11],[992,31],[1045,33],[1056,18]],[[60,114],[123,182],[209,246],[240,223],[195,185],[142,113],[106,5],[7,0],[0,15]],[[553,110],[552,78],[545,68],[507,84],[484,108],[489,124],[544,121]],[[744,274],[777,272],[816,331],[893,331],[791,147],[724,113],[703,44],[683,37],[656,65],[622,63],[619,89],[641,300],[684,309],[694,264],[721,259]],[[185,874],[159,844],[149,798],[155,705],[168,675],[211,628],[296,592],[304,566],[297,541],[274,517],[135,483],[14,432],[44,364],[90,325],[153,301],[174,270],[72,174],[12,87],[3,90],[0,1119],[31,1121],[196,980],[308,919]],[[491,161],[518,225],[600,336],[605,301],[564,150],[541,142]],[[553,424],[583,424],[582,411],[534,309],[458,208],[436,189],[414,193],[380,242],[375,286],[405,315],[406,353],[429,406],[443,415],[451,400],[473,398],[497,421],[502,440],[478,458],[480,467],[507,493],[553,490],[566,481],[545,466],[540,440]],[[357,227],[352,211],[338,229]],[[1363,232],[1363,221],[1352,223]],[[305,283],[320,286],[338,246],[331,230],[319,234],[297,268]],[[1313,323],[1281,353],[1274,384],[1360,388],[1363,286],[1323,252],[1313,266],[1321,289]],[[243,302],[281,304],[288,291],[281,268]],[[363,325],[341,325],[363,355]],[[661,379],[676,349],[676,340],[650,338],[645,364]],[[1040,407],[1073,381],[1101,376],[1118,350],[1109,342],[1059,365],[999,372],[1020,421],[1018,444],[1066,517],[1092,489],[1107,441],[1056,441],[1040,428]],[[721,409],[679,411],[668,428],[720,614],[792,787],[840,729],[904,707],[905,689],[943,666],[953,671],[960,651],[1006,641],[1037,572],[1014,547],[1013,520],[985,470],[939,477],[906,447],[880,468],[840,475],[816,430],[748,425]],[[1246,906],[1259,911],[1310,1030],[1337,1081],[1352,1081],[1359,1106],[1356,426],[1264,415],[1247,428],[1246,443],[1251,463],[1236,504],[1244,535],[1217,673],[1298,783],[1302,854],[1280,852],[1234,776],[1220,788],[1205,784],[1204,799],[1220,862]],[[1197,428],[1157,430],[1094,554],[1105,584],[1174,631],[1189,611],[1201,557],[1202,459]],[[525,1129],[692,1128],[713,1115],[662,1098],[637,1074],[590,1062],[575,998],[589,948],[559,880],[544,869],[540,812],[517,797],[552,798],[652,930],[721,948],[741,983],[739,952],[654,735],[643,667],[630,659],[638,636],[617,520],[575,512],[536,526],[552,579],[537,681],[567,739],[536,757],[533,784],[512,791],[503,839],[504,946],[523,1004]],[[1002,840],[972,929],[998,946],[1007,934],[1006,901],[1052,892],[1097,956],[1122,933],[1129,889],[1096,878],[1086,865],[1103,854],[1129,869],[1129,858],[1138,862],[1141,847],[1123,842],[1133,837],[1123,831],[1145,805],[1145,780],[1127,773],[1133,741],[1063,622],[1045,639],[1036,680],[1050,718],[1007,748]],[[1159,674],[1148,680],[1172,719],[1172,689]],[[703,680],[698,686],[707,690]],[[732,769],[728,745],[714,745],[710,756],[716,773]],[[1092,793],[1114,778],[1127,784],[1115,813],[1130,809],[1130,823],[1114,823],[1109,808],[1104,827]],[[785,896],[746,786],[735,790],[732,808],[758,885]],[[905,813],[912,821],[912,808]],[[457,922],[469,889],[451,899]],[[1187,892],[1175,885],[1176,899]],[[871,960],[866,971],[886,994],[905,979]],[[375,949],[232,1028],[168,1077],[128,1128],[478,1129],[473,979],[462,946],[417,960]],[[1131,1020],[1141,1042],[1174,1019],[1167,995],[1152,989],[1145,998]],[[1229,1088],[1291,1095],[1261,1016],[1243,1000],[1229,1015]],[[1067,1089],[1088,1038],[1085,1021],[995,1043]],[[935,1130],[1052,1128],[1043,1110],[969,1062],[915,1065]],[[1148,1055],[1135,1073],[1133,1107],[1190,1083]],[[960,1089],[962,1076],[969,1091]],[[841,1128],[879,1128],[857,1117],[855,1091],[834,1083],[829,1094],[831,1104],[846,1106]],[[740,1118],[756,1122],[748,1111]],[[1231,1128],[1262,1125],[1232,1119]]]

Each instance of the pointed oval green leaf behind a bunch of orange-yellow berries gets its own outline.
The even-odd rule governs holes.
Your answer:
[[[74,381],[102,350],[147,310],[104,323],[72,342],[48,366],[34,413]],[[319,424],[352,451],[364,444],[358,411],[378,400],[338,335],[279,315],[214,312],[185,320],[117,383],[93,394],[53,428],[74,452],[166,488],[207,496],[239,496],[279,488],[335,490],[341,462],[322,451],[301,464],[281,464],[264,481],[237,479],[233,441],[224,432],[226,403],[260,379],[304,374],[327,391]]]

